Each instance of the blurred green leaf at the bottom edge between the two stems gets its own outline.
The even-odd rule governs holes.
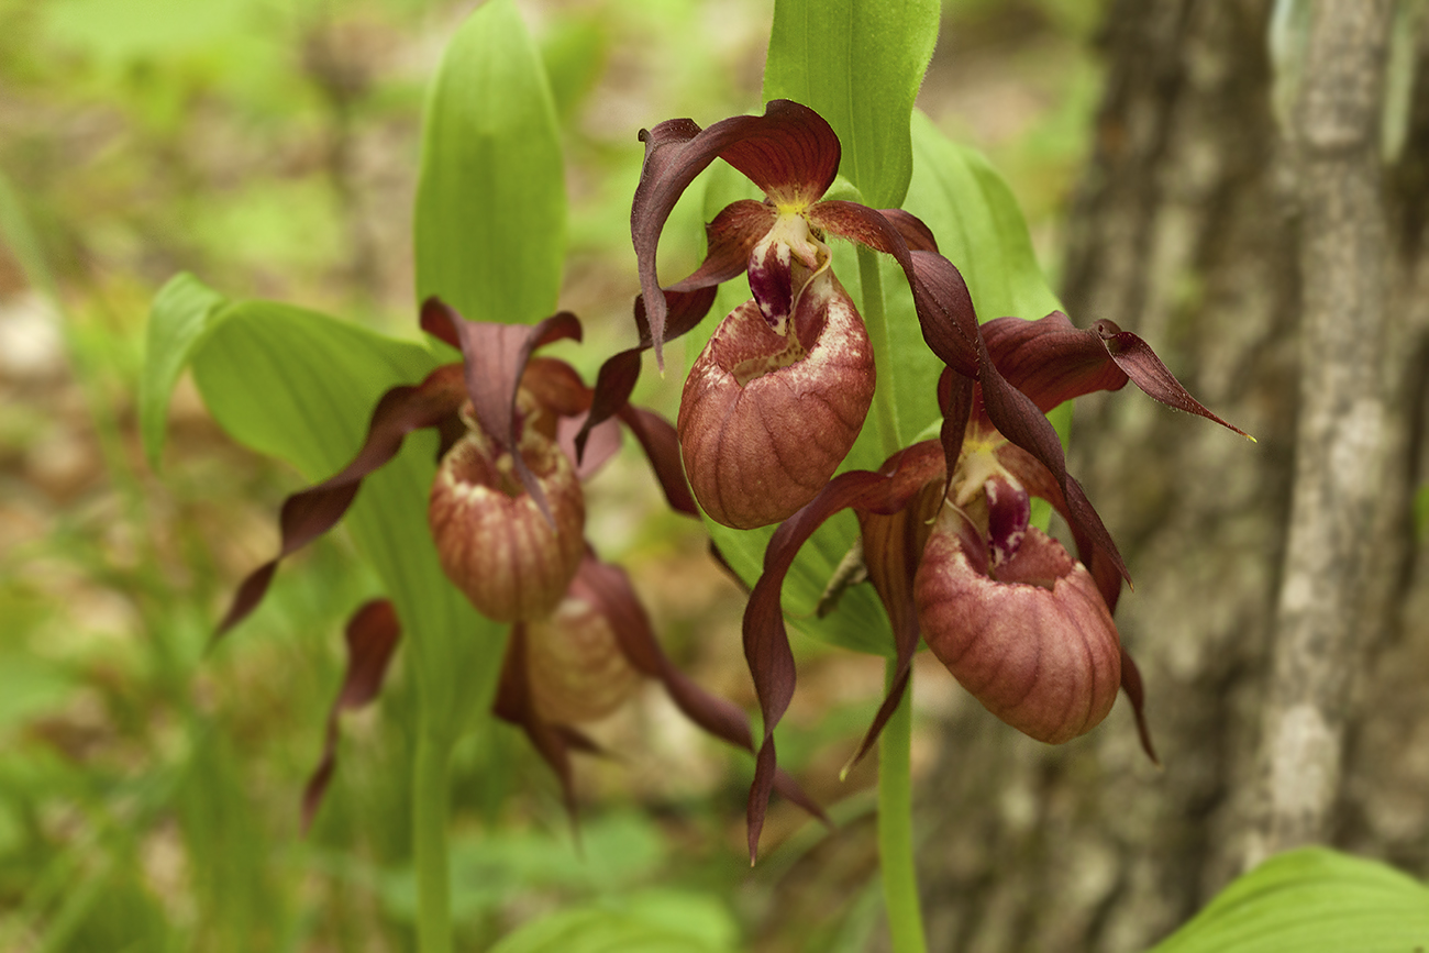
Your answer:
[[[736,936],[713,897],[646,890],[527,923],[492,953],[729,953]]]

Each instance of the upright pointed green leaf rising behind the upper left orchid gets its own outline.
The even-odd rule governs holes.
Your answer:
[[[474,321],[556,310],[566,179],[540,54],[512,0],[457,30],[427,100],[416,209],[417,297]]]

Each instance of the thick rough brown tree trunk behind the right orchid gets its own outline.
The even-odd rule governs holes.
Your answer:
[[[930,949],[1145,950],[1245,863],[1290,517],[1310,237],[1270,106],[1272,6],[1112,4],[1095,156],[1069,226],[1073,321],[1135,330],[1203,403],[1259,439],[1130,387],[1077,406],[1072,471],[1136,583],[1117,624],[1146,680],[1165,769],[1142,756],[1125,700],[1090,736],[1052,749],[960,696],[920,789]],[[1386,171],[1385,293],[1396,320],[1382,374],[1388,476],[1362,527],[1375,562],[1355,636],[1369,654],[1352,680],[1326,837],[1423,874],[1429,560],[1410,537],[1409,500],[1426,471],[1429,416],[1429,54],[1419,63],[1403,159]]]

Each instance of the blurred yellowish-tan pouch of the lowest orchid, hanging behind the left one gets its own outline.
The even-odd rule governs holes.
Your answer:
[[[527,623],[526,653],[536,712],[557,724],[606,717],[640,682],[610,620],[583,599],[564,599],[547,619]]]

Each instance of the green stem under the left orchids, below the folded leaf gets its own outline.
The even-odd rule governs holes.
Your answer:
[[[419,727],[412,783],[412,853],[417,870],[417,949],[452,953],[452,883],[447,819],[452,744]]]

